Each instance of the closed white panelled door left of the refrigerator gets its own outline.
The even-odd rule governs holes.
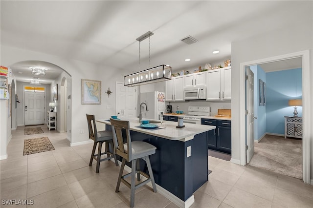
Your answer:
[[[124,86],[116,83],[116,115],[121,115],[124,110],[126,117],[136,117],[136,87]]]

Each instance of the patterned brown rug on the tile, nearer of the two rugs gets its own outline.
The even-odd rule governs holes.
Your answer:
[[[45,152],[54,150],[53,145],[51,144],[48,137],[40,137],[34,139],[25,139],[24,140],[24,152],[23,155],[30,155],[39,152]]]

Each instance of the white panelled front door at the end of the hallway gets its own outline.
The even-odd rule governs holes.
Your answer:
[[[25,125],[45,123],[45,92],[25,91]]]

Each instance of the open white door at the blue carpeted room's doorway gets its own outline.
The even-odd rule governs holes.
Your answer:
[[[246,162],[249,163],[254,154],[254,74],[246,67]]]

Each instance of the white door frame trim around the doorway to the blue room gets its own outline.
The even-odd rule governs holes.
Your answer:
[[[246,90],[246,66],[257,65],[261,63],[275,62],[286,59],[298,58],[302,59],[302,119],[303,119],[303,182],[306,184],[312,183],[310,179],[310,127],[311,124],[311,88],[310,88],[310,51],[298,51],[290,54],[269,57],[260,60],[240,63],[240,91]],[[240,164],[246,165],[246,94],[240,93]]]

